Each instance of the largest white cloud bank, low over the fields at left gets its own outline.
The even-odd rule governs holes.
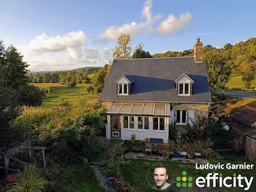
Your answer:
[[[86,34],[71,31],[63,36],[48,37],[41,34],[31,39],[28,45],[19,47],[23,60],[33,72],[70,70],[83,66],[104,66],[108,64],[104,50],[85,49]],[[83,51],[82,51],[83,50]],[[103,55],[103,56],[102,56]]]

